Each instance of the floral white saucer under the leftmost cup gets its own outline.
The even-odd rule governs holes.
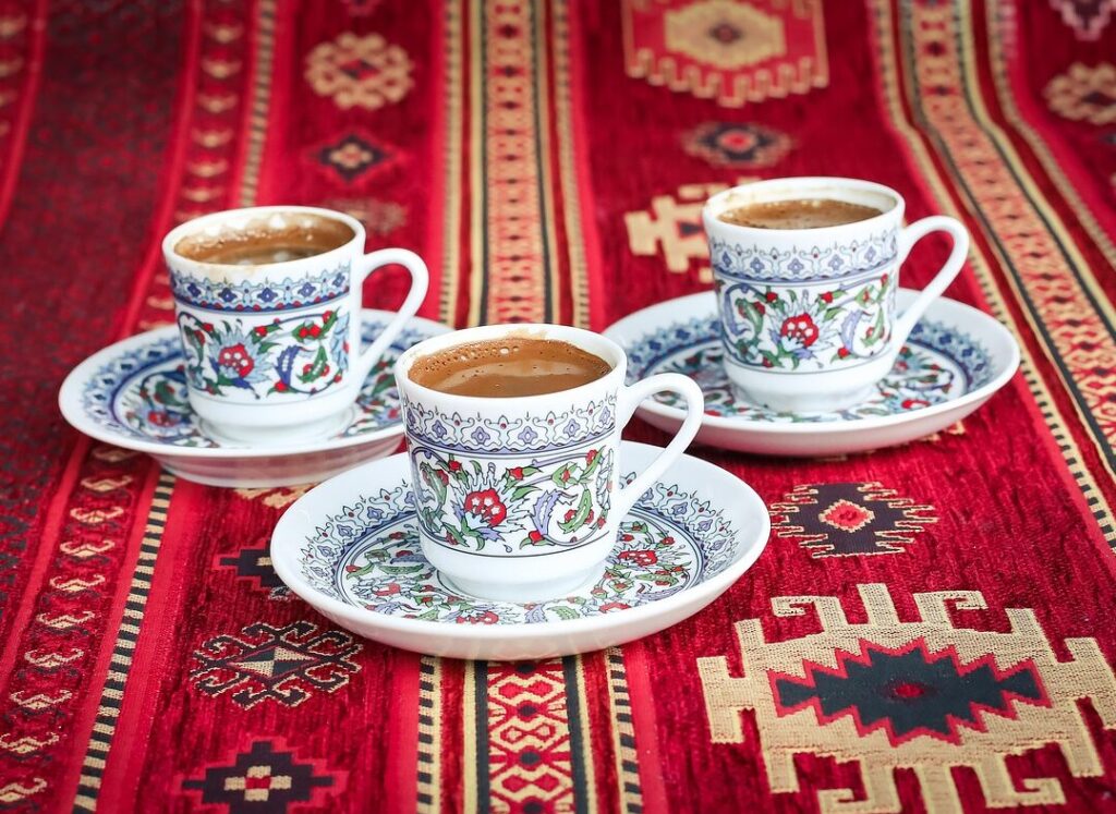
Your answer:
[[[364,309],[364,341],[375,338],[392,316]],[[398,447],[403,424],[392,372],[395,360],[412,345],[449,331],[429,319],[410,319],[373,366],[348,421],[318,441],[258,449],[206,437],[190,409],[180,371],[182,345],[173,325],[95,353],[66,377],[58,404],[66,420],[85,434],[146,452],[187,480],[239,488],[308,483]]]

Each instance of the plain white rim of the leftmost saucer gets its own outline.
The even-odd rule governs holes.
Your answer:
[[[393,312],[382,310],[379,308],[362,308],[360,314],[364,319],[387,320],[394,316]],[[413,316],[407,319],[404,324],[404,329],[415,326],[422,326],[425,329],[427,336],[424,338],[441,336],[453,331],[453,328],[449,325],[420,316]],[[114,342],[113,344],[107,345],[106,347],[103,347],[87,356],[69,372],[62,381],[61,386],[58,389],[58,409],[61,412],[62,418],[66,419],[67,423],[69,423],[69,425],[75,430],[96,441],[110,443],[114,447],[121,447],[136,452],[144,452],[155,458],[169,458],[175,460],[181,458],[223,458],[238,460],[287,458],[290,456],[330,452],[334,450],[348,449],[350,447],[359,447],[366,443],[382,443],[393,437],[397,438],[403,435],[403,422],[401,420],[388,427],[358,435],[333,437],[319,441],[304,441],[301,443],[290,446],[181,447],[173,443],[157,443],[154,441],[143,441],[133,438],[116,430],[108,429],[105,424],[95,421],[86,414],[81,404],[81,391],[98,370],[105,366],[110,360],[119,356],[122,353],[142,347],[145,344],[170,338],[176,333],[177,327],[175,325],[164,325],[128,336],[118,342]]]

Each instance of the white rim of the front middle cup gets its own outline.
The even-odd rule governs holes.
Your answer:
[[[419,384],[419,382],[414,381],[408,375],[412,364],[414,364],[414,361],[420,356],[437,353],[440,351],[444,351],[456,345],[464,345],[470,342],[483,342],[487,339],[496,339],[513,335],[517,332],[552,333],[554,335],[542,336],[539,338],[569,342],[571,345],[575,345],[583,351],[604,358],[605,362],[612,365],[612,370],[600,376],[600,379],[595,379],[591,382],[579,384],[576,387],[556,390],[550,393],[511,396],[461,395],[458,393],[444,393],[440,390],[434,390],[433,387]],[[578,342],[577,338],[587,341],[590,346],[587,347],[585,344]],[[596,345],[596,347],[593,347],[591,345]],[[613,358],[606,357],[600,352],[602,348],[607,351]],[[578,328],[571,325],[556,325],[554,323],[507,323],[461,328],[448,334],[431,336],[430,338],[423,339],[417,345],[413,345],[400,354],[400,357],[395,361],[395,380],[401,391],[406,389],[423,400],[448,399],[454,402],[460,402],[462,405],[465,405],[466,409],[474,409],[478,411],[492,410],[498,406],[510,410],[526,410],[539,404],[546,399],[561,398],[577,400],[581,398],[589,398],[595,390],[599,390],[602,386],[606,389],[619,389],[619,386],[624,384],[624,376],[626,375],[626,372],[627,354],[616,342],[609,339],[603,334],[598,334],[595,331]]]

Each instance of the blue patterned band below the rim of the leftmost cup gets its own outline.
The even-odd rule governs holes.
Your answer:
[[[171,269],[171,293],[183,305],[208,310],[269,313],[306,308],[349,293],[349,264],[316,275],[276,280],[211,280]]]

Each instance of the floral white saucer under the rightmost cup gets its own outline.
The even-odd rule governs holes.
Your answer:
[[[901,288],[902,310],[917,291]],[[1002,387],[1019,366],[1019,346],[1000,323],[975,308],[936,299],[911,332],[876,392],[840,412],[777,413],[737,399],[721,365],[720,323],[712,291],[636,312],[605,331],[628,355],[628,383],[683,373],[705,394],[698,442],[771,456],[833,456],[913,441],[950,427]],[[667,432],[685,412],[671,394],[639,405]]]

